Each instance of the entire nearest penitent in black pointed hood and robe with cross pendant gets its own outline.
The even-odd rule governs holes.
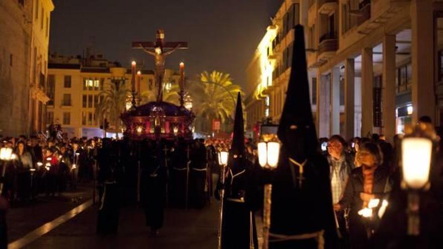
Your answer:
[[[278,127],[269,248],[334,248],[329,164],[318,151],[309,99],[304,31],[295,28],[291,73]]]

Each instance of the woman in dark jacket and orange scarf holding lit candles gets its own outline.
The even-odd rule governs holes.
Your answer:
[[[389,169],[383,166],[383,154],[379,145],[363,143],[359,147],[361,167],[352,170],[342,199],[334,205],[335,210],[350,208],[349,235],[353,249],[367,248],[372,224],[358,211],[368,207],[372,199],[383,199],[391,190]]]

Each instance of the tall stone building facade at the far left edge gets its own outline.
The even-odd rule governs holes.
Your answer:
[[[51,0],[0,2],[0,134],[42,131]]]

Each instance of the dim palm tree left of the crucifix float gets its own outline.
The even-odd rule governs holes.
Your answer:
[[[130,101],[130,91],[123,85],[110,84],[99,94],[101,102],[96,108],[98,117],[107,117],[109,123],[115,126],[116,132],[121,129],[120,115],[125,111],[126,103]]]

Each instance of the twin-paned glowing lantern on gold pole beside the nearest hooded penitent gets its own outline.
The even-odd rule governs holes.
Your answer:
[[[263,135],[257,144],[258,162],[263,169],[274,170],[278,165],[280,143],[275,134]],[[265,184],[263,200],[263,249],[269,246],[269,229],[271,227],[271,193],[272,184]]]

